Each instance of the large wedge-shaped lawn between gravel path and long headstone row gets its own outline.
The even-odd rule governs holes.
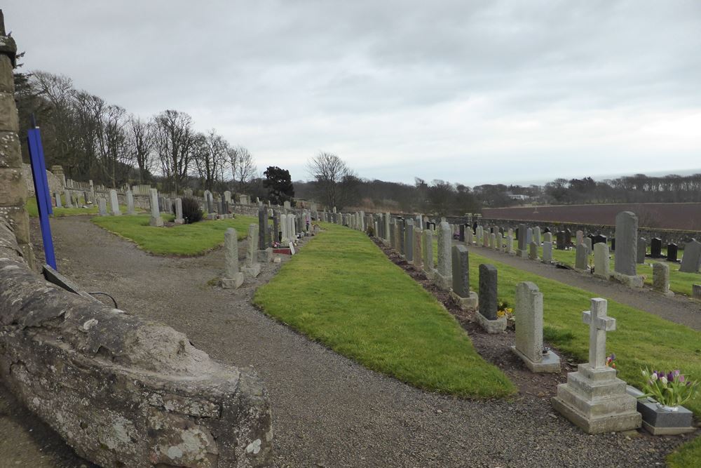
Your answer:
[[[431,391],[508,396],[456,320],[361,232],[322,223],[254,303],[367,368]]]

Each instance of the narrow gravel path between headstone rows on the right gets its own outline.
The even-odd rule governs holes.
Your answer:
[[[457,241],[454,241],[456,243]],[[529,273],[538,274],[547,279],[554,279],[568,286],[574,286],[592,292],[592,297],[606,297],[621,304],[627,304],[636,309],[650,312],[662,319],[681,323],[694,330],[701,330],[701,302],[690,299],[685,295],[665,296],[655,293],[646,286],[633,289],[620,283],[598,279],[592,274],[575,272],[572,269],[545,265],[543,262],[518,258],[515,255],[499,252],[491,248],[468,246],[471,252],[482,257],[505,263],[511,267],[522,269]]]

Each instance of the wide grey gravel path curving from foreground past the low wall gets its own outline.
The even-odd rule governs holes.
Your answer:
[[[198,258],[156,257],[87,218],[54,220],[53,229],[64,274],[88,290],[113,294],[131,313],[187,333],[219,361],[256,368],[271,399],[278,467],[639,468],[664,464],[665,455],[689,439],[583,434],[552,410],[552,377],[522,374],[518,379],[536,383],[511,401],[423,392],[339,356],[253,307],[255,288],[278,265],[265,265],[257,281],[238,290],[222,290],[207,285],[223,269],[220,250]],[[478,335],[472,333],[479,343]],[[500,345],[491,360],[503,359],[508,370],[508,340],[495,340]],[[4,419],[0,428],[6,429]],[[8,466],[19,456],[8,453]]]

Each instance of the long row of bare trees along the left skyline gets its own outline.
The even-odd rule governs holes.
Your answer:
[[[184,112],[165,110],[143,119],[48,72],[16,73],[15,88],[22,133],[34,116],[47,166],[63,166],[69,178],[110,187],[157,178],[163,189],[175,192],[184,187],[245,192],[256,176],[245,147],[231,145],[214,129],[196,131]]]

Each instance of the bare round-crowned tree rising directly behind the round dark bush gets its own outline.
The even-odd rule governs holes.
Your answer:
[[[195,133],[192,118],[184,112],[166,110],[154,117],[154,144],[168,188],[182,187],[193,159]]]

